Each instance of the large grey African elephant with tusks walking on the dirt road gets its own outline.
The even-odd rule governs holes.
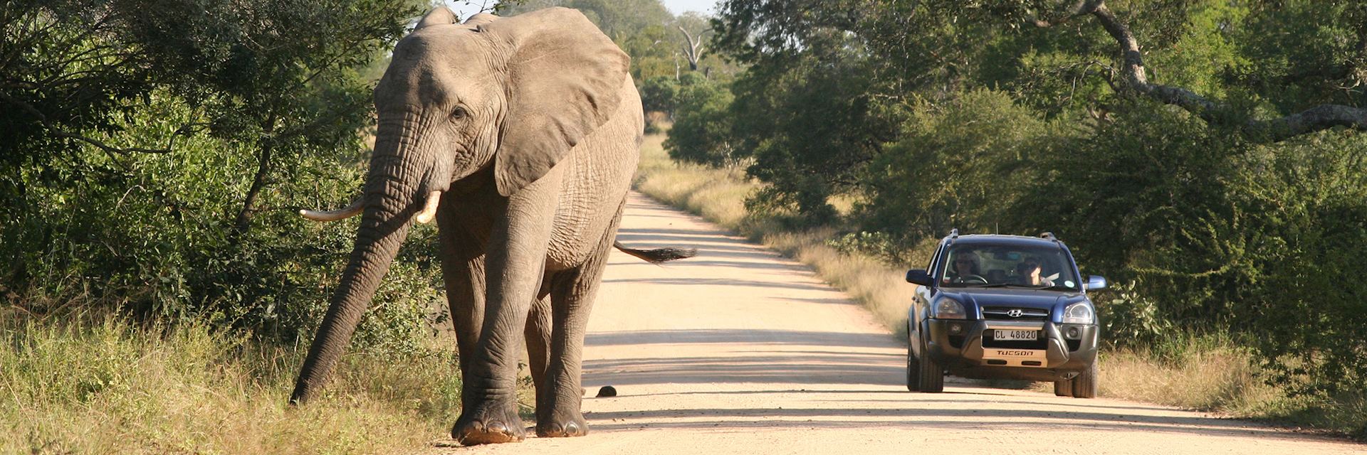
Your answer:
[[[692,251],[614,240],[642,139],[629,57],[582,14],[439,7],[394,48],[375,89],[375,154],[350,262],[291,403],[327,381],[413,220],[436,220],[463,374],[451,436],[525,437],[515,402],[519,343],[536,384],[536,433],[581,436],[581,350],[611,247],[648,261]],[[521,331],[522,336],[518,336]]]

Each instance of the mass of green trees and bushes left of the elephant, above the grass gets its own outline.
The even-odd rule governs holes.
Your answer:
[[[42,313],[87,299],[141,317],[306,331],[347,232],[294,210],[354,195],[372,122],[373,82],[361,71],[418,10],[11,3],[0,12],[0,135],[14,139],[0,160],[0,250],[18,260],[0,276],[21,295],[14,303]],[[381,291],[403,303],[379,313],[394,322],[384,331],[422,328],[432,276],[414,264],[391,273],[406,287]]]

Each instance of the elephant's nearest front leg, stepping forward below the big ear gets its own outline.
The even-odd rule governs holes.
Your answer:
[[[465,402],[451,429],[451,437],[461,444],[511,443],[526,436],[517,413],[517,366],[529,306],[545,269],[558,187],[552,171],[515,193],[499,210],[485,253],[484,324],[469,366],[462,359],[468,374],[461,394]]]

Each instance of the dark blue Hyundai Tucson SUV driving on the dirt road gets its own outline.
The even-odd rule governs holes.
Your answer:
[[[1096,396],[1096,307],[1106,279],[1077,272],[1044,232],[958,235],[939,242],[906,316],[906,388],[942,392],[945,374],[1053,381],[1059,396]]]

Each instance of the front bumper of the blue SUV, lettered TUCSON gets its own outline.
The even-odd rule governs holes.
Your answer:
[[[927,355],[950,374],[975,378],[1068,380],[1096,362],[1095,324],[1050,321],[925,321]],[[957,331],[954,327],[957,325]],[[997,329],[1040,331],[1033,342],[998,342]],[[1073,335],[1073,336],[1068,336]]]

